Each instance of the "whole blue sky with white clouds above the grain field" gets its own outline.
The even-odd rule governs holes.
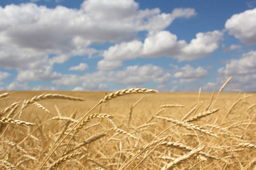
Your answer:
[[[256,91],[256,1],[0,0],[0,91]]]

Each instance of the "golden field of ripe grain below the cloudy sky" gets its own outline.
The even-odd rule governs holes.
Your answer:
[[[0,92],[0,167],[255,169],[256,94],[154,92]]]

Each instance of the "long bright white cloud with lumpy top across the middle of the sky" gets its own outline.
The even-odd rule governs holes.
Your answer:
[[[177,40],[177,36],[168,31],[152,31],[148,33],[144,42],[134,40],[110,46],[104,51],[104,59],[98,62],[98,69],[116,69],[122,66],[122,61],[137,57],[168,56],[178,61],[193,61],[218,49],[222,37],[223,33],[220,31],[200,32],[188,44],[185,40]],[[109,67],[109,63],[112,62],[118,62],[118,65]],[[104,67],[104,64],[107,67]]]

